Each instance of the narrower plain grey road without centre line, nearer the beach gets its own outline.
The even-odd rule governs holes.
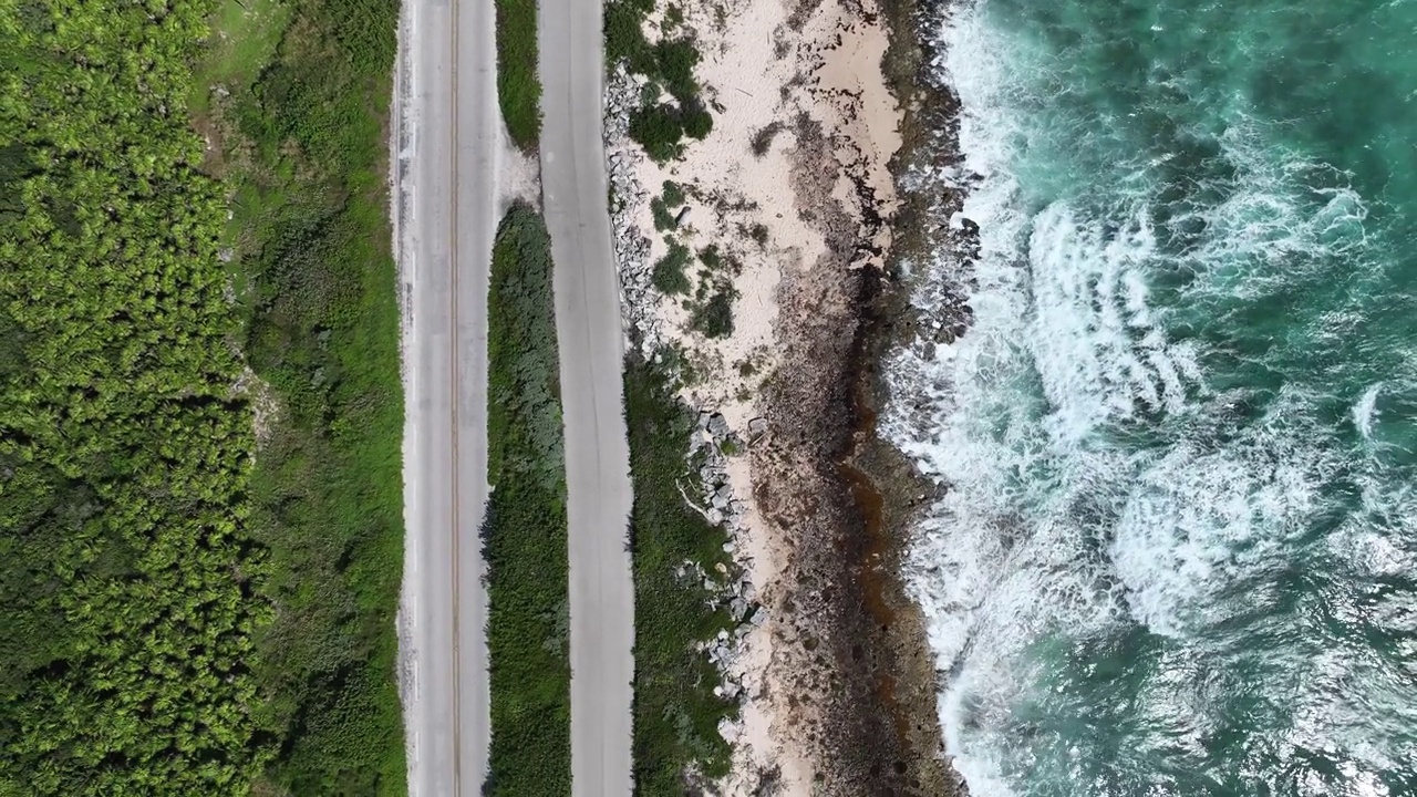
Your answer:
[[[571,540],[571,794],[629,797],[635,601],[625,347],[601,143],[601,3],[543,0],[538,17],[541,197],[555,261]]]

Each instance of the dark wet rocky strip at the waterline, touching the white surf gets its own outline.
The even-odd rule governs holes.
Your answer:
[[[924,615],[913,596],[910,560],[913,529],[921,513],[948,485],[924,478],[914,462],[876,431],[876,413],[891,404],[887,367],[904,347],[932,347],[965,333],[971,322],[966,303],[969,268],[978,254],[978,228],[962,218],[969,180],[944,180],[964,162],[959,149],[959,98],[934,71],[941,54],[930,31],[939,30],[955,0],[886,0],[884,14],[891,47],[883,64],[893,92],[905,112],[901,118],[903,146],[891,160],[900,208],[893,220],[894,247],[876,291],[863,296],[863,332],[857,350],[857,390],[866,413],[857,430],[860,445],[854,464],[879,485],[881,535],[887,540],[880,566],[888,573],[883,600],[894,608],[900,632],[891,644],[897,651],[898,699],[907,705],[928,705],[934,713],[944,688],[945,672],[937,669],[934,651],[925,644]],[[962,223],[952,225],[951,220]],[[931,268],[930,264],[949,264]],[[948,274],[942,274],[942,271]],[[948,279],[941,279],[948,277]],[[935,282],[927,282],[934,279]],[[928,291],[938,313],[922,318],[915,299]],[[904,407],[904,414],[911,413]],[[934,788],[920,791],[939,797],[968,797],[969,787],[954,770],[944,746],[938,715],[914,725],[905,733],[918,747],[938,745],[941,767]]]

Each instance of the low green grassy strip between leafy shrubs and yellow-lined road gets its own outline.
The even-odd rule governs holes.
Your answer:
[[[200,75],[247,313],[279,406],[252,476],[276,620],[258,638],[265,794],[407,791],[394,679],[402,390],[383,122],[394,0],[228,0]],[[220,34],[225,33],[222,38]]]

